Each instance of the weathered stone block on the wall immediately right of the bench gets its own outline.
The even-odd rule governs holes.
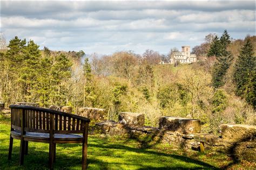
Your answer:
[[[104,121],[107,119],[105,109],[99,108],[79,108],[78,115],[90,118],[94,121]]]

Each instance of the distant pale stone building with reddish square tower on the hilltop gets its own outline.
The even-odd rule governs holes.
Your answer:
[[[170,64],[174,63],[192,63],[197,61],[197,56],[195,54],[190,54],[190,46],[182,46],[181,52],[174,52],[169,60]],[[160,61],[160,64],[164,64]]]

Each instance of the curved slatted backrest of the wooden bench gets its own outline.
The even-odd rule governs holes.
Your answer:
[[[10,105],[11,128],[42,133],[84,133],[90,119],[28,105]]]

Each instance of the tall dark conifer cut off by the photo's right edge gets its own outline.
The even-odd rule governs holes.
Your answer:
[[[242,46],[234,66],[235,93],[256,108],[256,57],[249,38]]]

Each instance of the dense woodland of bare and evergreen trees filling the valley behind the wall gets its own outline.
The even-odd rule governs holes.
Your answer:
[[[193,48],[198,62],[158,65],[176,51],[87,56],[40,50],[33,40],[15,37],[0,53],[0,101],[70,105],[73,112],[104,108],[109,119],[117,119],[119,111],[141,112],[152,126],[164,115],[196,118],[203,131],[213,133],[223,123],[255,125],[256,36],[208,34]]]

